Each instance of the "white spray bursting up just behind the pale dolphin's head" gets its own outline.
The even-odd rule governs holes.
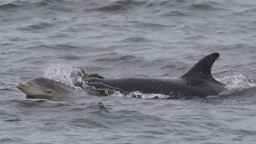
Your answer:
[[[72,79],[70,78],[72,71],[72,67],[68,66],[66,62],[60,61],[57,63],[52,63],[49,67],[47,67],[44,77],[76,88],[72,82]]]

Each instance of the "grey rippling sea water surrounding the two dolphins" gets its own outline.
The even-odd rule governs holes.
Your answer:
[[[0,143],[255,143],[255,15],[253,0],[2,0]],[[15,87],[32,76],[71,84],[75,68],[178,77],[212,52],[227,84],[215,97],[51,101]]]

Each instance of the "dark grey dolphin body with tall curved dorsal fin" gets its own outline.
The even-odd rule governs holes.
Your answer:
[[[171,97],[206,97],[217,95],[225,88],[212,77],[212,64],[220,56],[211,53],[199,60],[186,74],[178,78],[123,77],[113,79],[87,78],[84,81],[95,88],[112,89],[126,92],[164,94]],[[76,86],[82,86],[76,83]]]

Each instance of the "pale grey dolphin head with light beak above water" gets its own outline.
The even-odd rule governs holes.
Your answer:
[[[69,92],[69,86],[60,82],[36,77],[30,79],[27,83],[18,83],[16,87],[27,95],[28,99],[54,99]]]

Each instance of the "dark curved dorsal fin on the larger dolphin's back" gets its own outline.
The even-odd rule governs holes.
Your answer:
[[[214,63],[215,60],[219,58],[220,54],[218,52],[211,53],[201,60],[199,60],[193,68],[191,68],[186,74],[184,74],[183,78],[186,77],[200,77],[203,79],[209,79],[209,80],[214,80],[212,77],[212,64]]]

